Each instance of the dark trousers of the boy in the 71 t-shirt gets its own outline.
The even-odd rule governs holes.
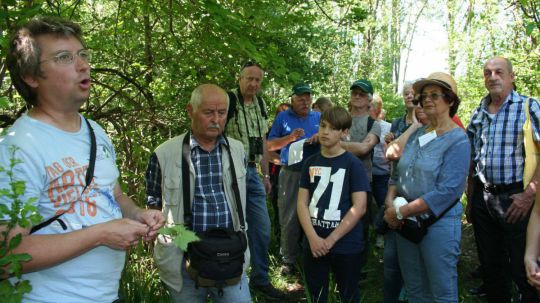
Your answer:
[[[307,240],[305,240],[307,242]],[[311,302],[326,303],[330,271],[334,274],[340,302],[360,302],[361,255],[332,254],[314,258],[309,243],[304,243],[304,271]]]

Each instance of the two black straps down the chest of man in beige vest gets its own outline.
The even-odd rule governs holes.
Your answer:
[[[189,161],[191,158],[191,151],[189,146],[189,139],[191,138],[191,133],[186,133],[184,140],[182,141],[182,194],[184,200],[184,224],[188,227],[192,227],[193,216],[191,214],[191,198],[190,198],[190,178],[189,178]],[[231,154],[229,140],[225,135],[224,146],[227,149],[227,154],[229,155],[229,162],[231,163],[231,175],[232,175],[232,185],[234,192],[234,200],[236,201],[236,209],[238,211],[238,218],[240,220],[240,229],[245,230],[246,225],[244,221],[244,211],[242,210],[242,203],[240,201],[240,188],[238,187],[238,179],[236,178],[236,169],[234,167],[234,162]]]

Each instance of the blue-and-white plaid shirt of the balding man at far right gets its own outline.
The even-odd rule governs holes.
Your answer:
[[[496,114],[489,114],[491,98],[484,97],[471,117],[467,134],[471,141],[475,176],[482,182],[511,184],[523,180],[523,124],[527,97],[512,93]],[[530,98],[530,118],[534,139],[540,140],[540,106]]]

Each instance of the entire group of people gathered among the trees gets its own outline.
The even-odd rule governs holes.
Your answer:
[[[488,302],[511,302],[513,283],[520,302],[539,302],[540,169],[530,179],[523,171],[525,123],[540,149],[540,104],[516,91],[506,58],[483,66],[487,95],[467,127],[456,81],[435,72],[404,85],[406,113],[391,123],[367,79],[350,85],[348,108],[327,97],[313,103],[311,86],[298,83],[268,130],[265,71],[247,62],[236,88],[193,90],[189,130],[149,156],[145,209],[122,193],[105,131],[79,113],[91,87],[80,27],[34,18],[10,40],[7,63],[30,109],[0,138],[0,166],[13,152],[21,160],[13,176],[26,184],[22,200],[45,219],[0,225],[2,237],[22,235],[14,252],[32,256],[22,263],[32,285],[23,302],[122,302],[126,250],[140,240],[155,242],[171,302],[251,302],[252,292],[284,302],[297,293],[271,283],[272,229],[280,273],[305,277],[296,292],[327,302],[332,273],[341,302],[360,302],[371,226],[384,247],[385,303],[404,294],[459,302],[464,212]],[[10,182],[0,175],[0,188]],[[2,195],[0,204],[11,201]],[[175,225],[200,241],[183,251],[158,234]]]

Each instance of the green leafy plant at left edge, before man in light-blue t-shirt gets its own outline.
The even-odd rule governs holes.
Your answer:
[[[17,148],[10,148],[10,166],[6,169],[0,166],[0,173],[6,174],[9,180],[9,188],[0,188],[0,196],[8,201],[12,201],[8,207],[0,204],[0,218],[9,217],[9,221],[3,222],[3,229],[0,232],[0,299],[2,302],[21,302],[22,296],[32,290],[28,281],[21,280],[22,263],[32,259],[26,253],[14,253],[13,251],[20,245],[22,235],[16,234],[8,237],[16,226],[28,227],[41,221],[41,216],[35,207],[35,199],[21,200],[24,195],[26,185],[24,181],[17,180],[14,175],[14,168],[21,161],[16,159]],[[12,280],[1,277],[13,277]]]

